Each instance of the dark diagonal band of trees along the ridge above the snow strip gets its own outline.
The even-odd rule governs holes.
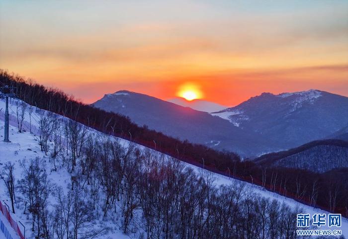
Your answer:
[[[10,75],[6,71],[0,72],[0,81],[3,84],[17,87],[16,94],[29,105],[71,118],[76,123],[68,125],[71,130],[82,127],[79,123],[94,128],[100,132],[131,140],[148,148],[155,148],[173,158],[198,165],[205,169],[218,172],[230,177],[257,184],[267,190],[294,198],[304,204],[320,207],[331,212],[342,213],[348,217],[348,184],[335,173],[314,173],[302,169],[291,169],[275,166],[262,166],[252,161],[243,161],[231,152],[220,152],[203,145],[191,144],[187,141],[163,135],[147,126],[137,126],[129,118],[83,104],[64,92],[46,88],[31,80]],[[20,105],[19,105],[20,107]],[[30,107],[29,107],[30,108]],[[18,126],[22,122],[19,112]],[[43,115],[44,117],[44,115]],[[76,124],[74,126],[74,124]],[[43,130],[41,147],[45,150],[45,129]],[[82,133],[83,134],[83,133]],[[40,136],[41,137],[41,136]],[[73,153],[71,170],[76,165],[76,159],[81,154],[82,145],[79,137],[67,136],[69,147]],[[59,140],[59,137],[55,139]],[[57,144],[59,148],[59,144]],[[57,148],[57,150],[59,150]],[[55,154],[57,154],[57,150]]]

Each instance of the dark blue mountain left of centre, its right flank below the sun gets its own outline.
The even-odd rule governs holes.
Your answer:
[[[220,117],[145,94],[121,90],[105,94],[92,105],[128,116],[140,126],[147,125],[150,129],[180,140],[236,152],[242,156],[254,155],[267,148],[255,133],[249,133]]]

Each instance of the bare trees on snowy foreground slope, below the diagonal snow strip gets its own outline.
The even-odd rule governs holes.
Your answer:
[[[21,160],[20,178],[11,162],[1,171],[12,205],[31,220],[33,238],[92,239],[112,230],[105,221],[138,239],[306,238],[296,235],[300,209],[263,198],[245,183],[219,186],[209,171],[62,122],[61,151],[54,153],[51,128],[42,148],[47,157]],[[74,136],[84,142],[81,149]],[[49,179],[66,171],[68,188]]]

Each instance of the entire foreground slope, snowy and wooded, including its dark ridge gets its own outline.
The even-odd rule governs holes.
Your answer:
[[[17,79],[16,77],[15,80]],[[20,219],[27,228],[33,227],[33,231],[27,230],[28,239],[48,238],[50,235],[56,238],[57,233],[62,236],[61,232],[66,235],[77,233],[86,239],[139,239],[153,235],[158,238],[165,238],[167,235],[178,238],[182,236],[181,231],[172,229],[181,229],[182,225],[186,225],[187,234],[194,235],[201,230],[204,234],[199,238],[206,238],[206,235],[221,238],[220,233],[216,233],[216,227],[224,227],[233,218],[233,211],[225,210],[226,208],[233,207],[236,209],[234,211],[241,212],[238,216],[240,220],[237,220],[240,223],[237,222],[237,227],[231,229],[234,231],[227,231],[226,235],[245,232],[243,222],[250,218],[250,210],[244,210],[246,206],[249,209],[275,208],[270,213],[283,219],[272,227],[279,231],[284,225],[288,225],[287,228],[293,235],[291,237],[294,238],[296,225],[293,222],[296,212],[328,214],[313,208],[329,207],[328,192],[331,192],[332,185],[340,190],[334,196],[330,194],[331,211],[342,214],[347,212],[348,188],[342,178],[337,178],[335,172],[330,172],[331,175],[323,178],[318,173],[308,176],[301,169],[296,169],[297,173],[293,173],[295,169],[292,168],[269,167],[267,173],[264,173],[264,183],[262,176],[261,186],[261,168],[253,162],[240,161],[232,158],[233,154],[178,142],[161,133],[137,127],[124,116],[74,101],[59,90],[47,90],[42,85],[27,84],[20,78],[14,81],[13,77],[6,74],[1,76],[0,73],[1,81],[12,81],[14,84],[8,84],[16,85],[18,99],[11,99],[9,102],[12,143],[0,143],[0,170],[4,177],[4,180],[0,180],[0,188],[4,189],[0,192],[0,201],[12,204],[14,222]],[[20,99],[25,99],[32,105],[27,105]],[[41,105],[42,108],[33,104]],[[64,106],[68,110],[62,111]],[[3,107],[4,100],[0,99],[0,108]],[[0,111],[0,125],[3,124],[3,118],[4,112]],[[130,131],[133,134],[131,142],[123,139]],[[152,146],[147,144],[151,139],[167,144],[167,147],[157,147],[157,150],[171,156],[155,152],[156,146],[151,149]],[[175,159],[170,151],[175,148],[175,155],[179,159],[199,167]],[[204,157],[205,164],[200,161],[201,157]],[[209,158],[211,160],[207,160]],[[224,159],[227,163],[221,165],[220,162]],[[207,174],[202,167],[222,175]],[[339,175],[344,172],[340,170]],[[278,175],[277,180],[271,176],[274,173]],[[286,190],[283,178],[287,178]],[[5,186],[11,182],[13,187]],[[320,185],[316,189],[314,202],[308,200],[311,190],[307,190],[313,184]],[[37,192],[33,193],[28,185],[33,185]],[[13,191],[11,194],[10,188],[14,187],[23,189],[16,191],[15,198],[20,200],[14,200]],[[210,195],[206,193],[207,190],[213,194],[211,204],[205,203]],[[304,210],[299,211],[298,206],[301,204],[286,198],[288,195],[311,206],[302,204]],[[238,203],[231,200],[226,202],[227,197],[235,196],[239,197]],[[276,204],[273,199],[282,205]],[[196,202],[203,204],[197,207]],[[331,208],[332,204],[335,205],[334,208]],[[283,205],[288,205],[289,208]],[[32,208],[40,210],[30,210]],[[156,212],[167,212],[170,216],[165,217],[166,213]],[[182,215],[182,212],[187,213]],[[66,213],[75,216],[64,221]],[[253,210],[252,213],[256,215],[254,219],[260,218]],[[205,216],[202,218],[201,215]],[[204,226],[206,215],[211,222],[210,226]],[[343,215],[347,217],[347,213]],[[267,216],[268,214],[266,218],[269,218]],[[194,225],[203,227],[197,229],[196,226],[187,226],[190,224],[187,218],[197,218]],[[81,223],[76,224],[77,220]],[[16,226],[10,221],[12,227]],[[259,221],[252,220],[251,225],[259,225]],[[260,231],[260,227],[255,230],[254,235]],[[343,220],[343,235],[347,236],[347,230],[347,222]],[[249,229],[247,231],[250,232]],[[269,232],[269,229],[264,231]],[[51,232],[50,235],[48,232]],[[166,232],[170,234],[166,235]],[[285,237],[285,234],[289,235],[284,231],[279,237]],[[265,238],[268,238],[268,234]]]

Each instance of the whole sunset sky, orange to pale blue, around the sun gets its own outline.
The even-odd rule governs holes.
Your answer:
[[[44,8],[45,11],[37,11]],[[194,83],[227,106],[267,91],[348,96],[348,2],[1,1],[0,68],[91,103]]]

